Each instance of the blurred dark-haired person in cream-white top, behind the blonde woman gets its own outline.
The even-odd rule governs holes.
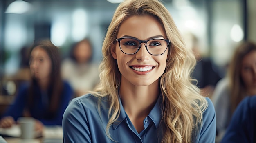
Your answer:
[[[74,44],[70,57],[62,62],[62,78],[70,83],[76,97],[93,90],[99,83],[98,65],[92,62],[92,53],[90,41],[84,39]]]

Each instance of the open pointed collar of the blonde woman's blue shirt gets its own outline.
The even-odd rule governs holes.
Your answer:
[[[126,119],[126,112],[124,110],[124,107],[122,105],[122,102],[121,102],[121,99],[120,99],[119,96],[118,96],[118,99],[119,99],[119,104],[120,104],[120,115],[117,118],[117,121],[115,121],[112,125],[114,130],[124,121],[124,119]],[[157,102],[155,103],[155,106],[153,107],[153,109],[148,114],[148,117],[150,117],[150,119],[153,121],[156,128],[159,127],[160,121],[162,119],[161,105],[162,105],[162,94],[160,94],[158,96],[158,99],[157,99]]]

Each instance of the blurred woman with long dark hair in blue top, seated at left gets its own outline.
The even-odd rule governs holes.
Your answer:
[[[36,119],[35,128],[44,125],[62,125],[62,117],[73,96],[71,86],[61,79],[58,47],[49,40],[41,40],[31,48],[29,55],[31,82],[21,84],[13,104],[0,121],[0,127],[9,128],[19,117]]]

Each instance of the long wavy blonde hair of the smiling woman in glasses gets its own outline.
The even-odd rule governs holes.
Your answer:
[[[120,25],[132,15],[154,16],[162,24],[168,40],[171,41],[166,69],[159,83],[163,97],[162,143],[191,143],[196,129],[202,124],[202,112],[208,104],[200,95],[199,89],[191,84],[195,57],[192,51],[186,48],[170,13],[158,0],[125,0],[117,7],[108,27],[102,48],[103,61],[99,67],[101,84],[94,92],[98,97],[108,97],[110,102],[107,136],[112,139],[109,128],[120,114],[118,89],[121,73],[117,61],[111,55],[111,47],[115,44]]]

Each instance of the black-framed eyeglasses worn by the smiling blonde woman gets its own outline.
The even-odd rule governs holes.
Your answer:
[[[162,55],[168,48],[170,40],[166,39],[150,39],[146,41],[139,40],[132,37],[118,38],[121,51],[128,55],[133,55],[141,48],[141,43],[145,43],[146,49],[150,55]]]

